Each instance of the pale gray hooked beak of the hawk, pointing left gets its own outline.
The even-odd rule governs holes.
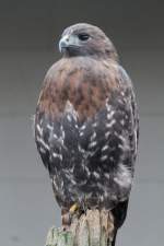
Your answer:
[[[75,37],[74,35],[65,35],[63,37],[61,37],[59,42],[60,52],[63,52],[66,49],[70,47],[79,47],[79,46],[80,45],[79,45],[78,37]]]

